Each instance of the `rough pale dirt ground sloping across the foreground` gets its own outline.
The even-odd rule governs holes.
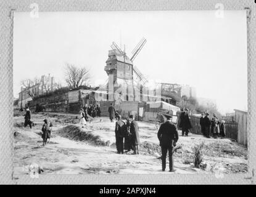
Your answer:
[[[42,146],[43,119],[54,123],[52,137]],[[106,117],[95,118],[80,129],[76,115],[40,113],[33,115],[35,126],[23,128],[23,117],[16,116],[15,174],[29,174],[28,166],[41,166],[44,174],[159,174],[160,147],[154,124],[139,122],[140,155],[118,155],[115,148],[115,123]],[[241,173],[247,171],[247,150],[229,139],[205,139],[189,134],[181,137],[174,153],[176,172],[171,173]],[[204,167],[193,165],[192,147],[205,143]],[[168,159],[167,159],[168,160]],[[168,164],[167,164],[168,166]]]

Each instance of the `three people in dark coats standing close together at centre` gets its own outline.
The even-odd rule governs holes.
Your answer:
[[[122,120],[121,115],[117,116],[115,140],[118,154],[123,154],[124,150],[126,152],[133,150],[133,155],[139,154],[139,126],[133,115],[130,115],[126,121]]]

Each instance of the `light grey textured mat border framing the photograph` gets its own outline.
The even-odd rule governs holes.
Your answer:
[[[29,175],[14,177],[13,126],[13,14],[30,12],[30,4],[37,3],[39,12],[67,11],[126,11],[126,10],[216,10],[221,3],[225,10],[250,9],[247,18],[248,59],[248,173],[225,175]],[[256,150],[256,4],[253,0],[175,0],[175,1],[81,1],[81,0],[3,0],[0,2],[0,183],[1,184],[250,184],[255,183]]]

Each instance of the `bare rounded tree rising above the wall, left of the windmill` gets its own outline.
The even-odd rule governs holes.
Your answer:
[[[65,81],[71,88],[86,86],[89,81],[89,70],[85,67],[80,68],[75,65],[67,64],[65,66]]]

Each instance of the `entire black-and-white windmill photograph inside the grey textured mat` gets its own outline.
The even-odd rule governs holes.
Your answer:
[[[247,173],[246,10],[17,12],[13,49],[15,175]]]

